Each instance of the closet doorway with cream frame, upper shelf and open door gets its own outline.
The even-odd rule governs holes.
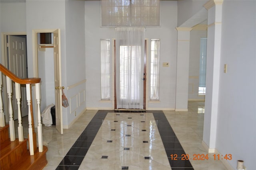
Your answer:
[[[63,134],[60,29],[33,30],[32,44],[34,76],[42,80],[41,107],[55,104],[56,129]]]

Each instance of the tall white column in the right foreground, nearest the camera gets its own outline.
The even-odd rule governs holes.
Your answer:
[[[208,10],[206,96],[202,145],[209,153],[215,151],[220,79],[220,48],[223,0],[210,0]]]

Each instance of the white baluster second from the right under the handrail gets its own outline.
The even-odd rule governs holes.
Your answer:
[[[31,98],[30,98],[30,92],[31,92],[30,84],[26,84],[26,94],[27,94],[27,101],[28,101],[28,135],[29,135],[29,150],[30,155],[34,155],[34,143],[33,143],[33,131],[32,131],[32,117],[31,117],[31,111],[30,111],[30,105],[31,105]]]

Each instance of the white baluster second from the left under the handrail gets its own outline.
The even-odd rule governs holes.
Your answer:
[[[13,120],[13,111],[12,111],[12,80],[8,76],[6,76],[6,86],[7,86],[7,93],[9,98],[10,139],[11,141],[15,141],[15,129],[14,129],[14,120]]]

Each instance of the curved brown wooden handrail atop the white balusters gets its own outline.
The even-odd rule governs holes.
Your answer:
[[[12,79],[14,82],[19,84],[36,84],[40,83],[41,78],[18,78],[15,74],[13,74],[10,70],[8,70],[5,66],[0,64],[0,71]]]

